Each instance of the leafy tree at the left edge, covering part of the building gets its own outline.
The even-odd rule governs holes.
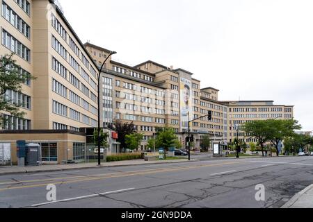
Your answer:
[[[21,74],[19,66],[13,60],[13,53],[0,57],[0,126],[3,125],[5,119],[1,112],[8,112],[13,117],[24,117],[25,112],[21,112],[19,108],[22,103],[17,103],[5,96],[8,90],[14,92],[22,92],[22,84],[28,78],[35,79],[29,74]]]

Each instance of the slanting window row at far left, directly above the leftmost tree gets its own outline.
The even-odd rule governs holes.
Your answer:
[[[4,29],[2,30],[2,44],[27,62],[31,61],[31,51]]]

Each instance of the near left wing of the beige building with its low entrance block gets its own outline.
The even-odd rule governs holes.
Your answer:
[[[49,162],[82,158],[86,137],[80,129],[97,126],[97,64],[54,1],[2,0],[0,25],[0,55],[15,53],[19,71],[35,77],[22,93],[4,95],[22,103],[26,114],[1,113],[1,142],[45,144],[42,159]],[[23,137],[16,130],[24,130]]]

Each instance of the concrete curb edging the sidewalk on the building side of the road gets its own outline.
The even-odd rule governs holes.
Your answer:
[[[168,161],[168,162],[143,162],[143,163],[134,163],[134,164],[116,164],[116,165],[102,165],[102,166],[91,166],[91,167],[74,167],[70,169],[35,169],[30,171],[10,171],[10,172],[0,172],[0,176],[4,175],[13,175],[13,174],[24,174],[24,173],[44,173],[44,172],[58,172],[58,171],[72,171],[79,169],[96,169],[96,168],[106,168],[106,167],[131,167],[131,166],[140,166],[140,165],[154,165],[154,164],[179,164],[184,162],[199,162],[200,160],[184,160],[184,161]]]

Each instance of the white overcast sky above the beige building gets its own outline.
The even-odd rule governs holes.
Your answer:
[[[295,105],[313,130],[312,0],[59,0],[83,42],[194,73],[220,100]]]

